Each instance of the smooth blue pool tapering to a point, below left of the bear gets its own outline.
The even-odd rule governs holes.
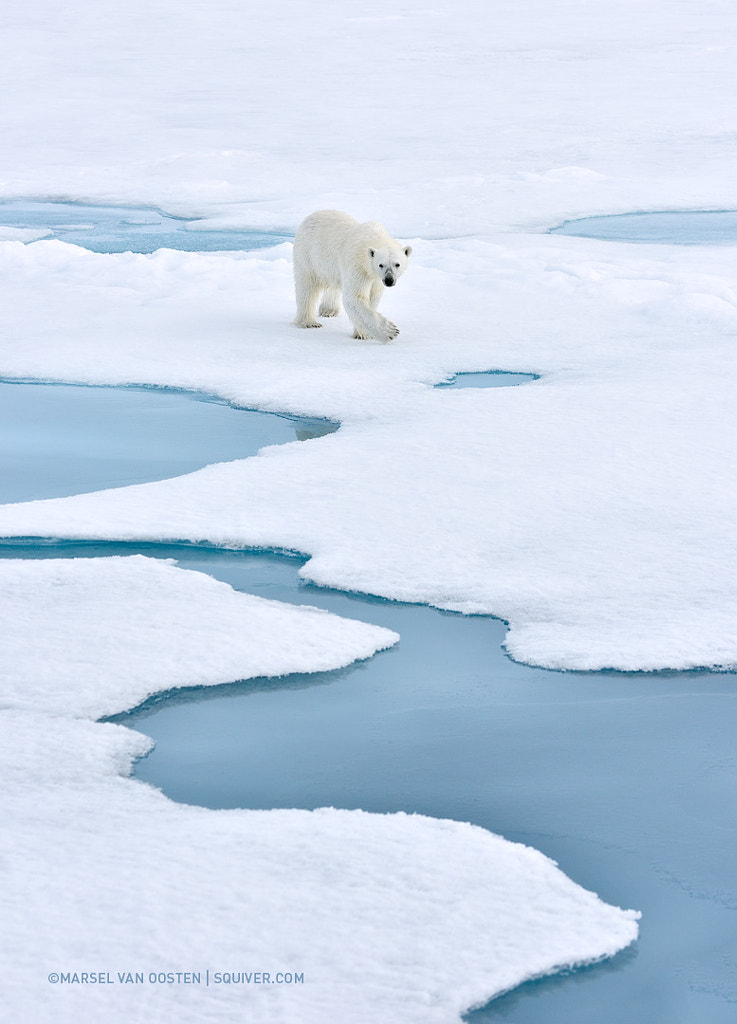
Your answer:
[[[161,480],[337,429],[164,388],[0,382],[0,502]]]

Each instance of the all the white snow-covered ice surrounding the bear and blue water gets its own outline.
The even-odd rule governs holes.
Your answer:
[[[500,615],[510,652],[535,664],[734,666],[735,251],[540,233],[733,204],[734,16],[722,0],[11,0],[4,198],[268,229],[335,207],[414,254],[383,346],[344,319],[291,326],[289,245],[102,256],[3,229],[3,377],[164,384],[344,425],[177,480],[6,506],[0,531],[274,545],[308,554],[318,583]],[[429,387],[487,369],[540,379]],[[0,748],[16,785],[15,1018],[456,1022],[634,938],[631,912],[470,825],[178,807],[125,777],[144,740],[84,720],[161,687],[345,664],[386,636],[141,559],[4,572],[23,682]],[[110,589],[92,602],[97,573]],[[35,649],[20,641],[40,617]],[[316,621],[319,651],[303,645]],[[113,996],[45,981],[206,959],[315,980]]]

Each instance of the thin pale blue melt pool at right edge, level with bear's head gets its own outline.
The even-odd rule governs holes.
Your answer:
[[[662,210],[566,220],[551,234],[676,246],[737,245],[737,210]]]

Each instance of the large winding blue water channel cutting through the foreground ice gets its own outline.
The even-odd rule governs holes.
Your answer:
[[[33,401],[55,390],[15,387]],[[62,392],[74,401],[97,389]],[[184,412],[187,402],[193,416],[202,412],[202,402],[176,397]],[[101,443],[105,422],[100,416]],[[620,1024],[624,1008],[633,1024],[731,1021],[734,674],[530,668],[505,655],[500,621],[317,588],[299,581],[297,556],[192,545],[2,546],[9,557],[135,552],[401,636],[347,670],[177,690],[119,716],[156,740],[137,777],[209,807],[336,806],[468,820],[536,847],[603,899],[642,908],[636,948],[531,983],[471,1021]]]

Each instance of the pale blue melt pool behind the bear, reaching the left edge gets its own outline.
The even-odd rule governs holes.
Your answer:
[[[292,240],[275,231],[199,230],[194,221],[140,207],[50,203],[37,200],[0,202],[0,227],[44,232],[96,253],[153,253],[157,249],[186,252],[263,249]]]

